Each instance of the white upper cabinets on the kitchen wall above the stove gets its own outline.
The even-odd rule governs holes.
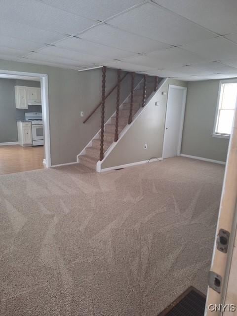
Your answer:
[[[17,109],[28,109],[28,105],[41,105],[41,90],[36,87],[15,85]]]

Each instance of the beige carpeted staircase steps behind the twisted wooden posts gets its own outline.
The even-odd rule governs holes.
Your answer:
[[[158,79],[161,80],[160,78]],[[158,82],[157,82],[158,84]],[[151,93],[154,92],[154,79],[147,78],[146,82],[146,98],[148,98]],[[139,83],[139,85],[132,91],[133,93],[133,111],[132,117],[141,108],[143,98],[144,98],[144,80]],[[130,111],[130,98],[128,97],[125,102],[119,107],[118,114],[118,134],[123,130],[123,128],[128,124],[128,117]],[[104,153],[108,150],[111,144],[114,143],[115,139],[115,128],[116,128],[116,115],[111,117],[109,123],[104,125],[104,138],[103,147]],[[101,133],[99,133],[98,139],[92,140],[92,146],[85,148],[85,155],[79,156],[79,163],[82,165],[96,170],[96,164],[100,157],[100,146],[101,146]]]

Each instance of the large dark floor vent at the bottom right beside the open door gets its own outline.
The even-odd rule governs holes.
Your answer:
[[[203,316],[205,303],[205,295],[191,286],[158,316]]]

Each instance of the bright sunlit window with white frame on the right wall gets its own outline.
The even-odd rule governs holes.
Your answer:
[[[214,135],[229,136],[231,134],[236,101],[237,82],[221,82]]]

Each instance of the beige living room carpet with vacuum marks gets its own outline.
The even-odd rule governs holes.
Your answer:
[[[224,166],[0,176],[1,316],[157,316],[206,291]]]

